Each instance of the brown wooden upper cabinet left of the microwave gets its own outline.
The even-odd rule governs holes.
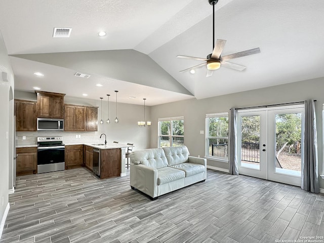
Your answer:
[[[36,102],[15,100],[16,131],[36,131]]]

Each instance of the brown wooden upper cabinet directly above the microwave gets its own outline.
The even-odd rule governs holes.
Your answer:
[[[37,117],[64,118],[65,94],[35,91],[37,93]]]

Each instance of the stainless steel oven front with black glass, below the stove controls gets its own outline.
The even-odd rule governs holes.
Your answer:
[[[65,146],[37,147],[37,173],[65,170]]]

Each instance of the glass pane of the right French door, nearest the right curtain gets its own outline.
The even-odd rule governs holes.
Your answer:
[[[302,113],[275,115],[275,172],[301,175]]]

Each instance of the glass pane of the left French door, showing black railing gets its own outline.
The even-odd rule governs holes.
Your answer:
[[[241,117],[241,166],[260,170],[260,115]]]

